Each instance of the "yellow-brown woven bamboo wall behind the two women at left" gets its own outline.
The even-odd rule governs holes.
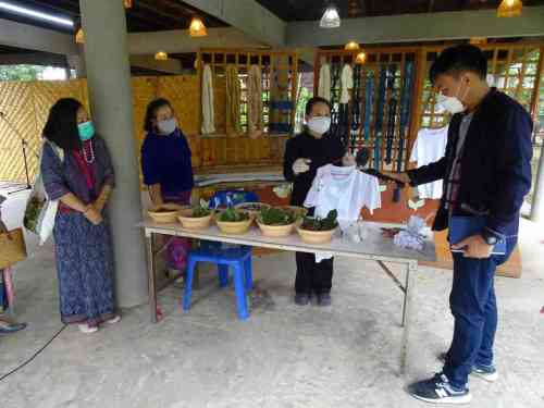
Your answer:
[[[225,110],[219,109],[225,101],[224,77],[215,77],[215,118],[219,132],[225,126]],[[133,108],[137,158],[145,137],[143,129],[147,104],[157,97],[171,100],[180,119],[181,127],[187,135],[193,151],[195,168],[221,165],[246,166],[259,164],[279,164],[283,160],[282,141],[286,137],[261,137],[247,139],[244,135],[238,144],[228,144],[225,137],[202,138],[199,136],[199,85],[195,75],[169,77],[134,77]],[[17,131],[26,135],[29,144],[28,162],[30,180],[36,176],[40,134],[51,106],[60,98],[75,98],[88,109],[87,82],[85,79],[67,82],[0,82],[0,111],[5,112]],[[106,135],[108,138],[108,135]],[[234,140],[233,140],[234,141]],[[235,169],[233,169],[234,171]],[[0,121],[0,180],[23,182],[24,161],[18,138]]]

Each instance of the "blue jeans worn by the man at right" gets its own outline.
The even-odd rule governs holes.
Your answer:
[[[456,388],[465,388],[472,367],[493,363],[497,330],[494,279],[498,265],[510,257],[517,238],[508,239],[504,256],[463,258],[454,254],[454,284],[449,307],[455,319],[454,339],[446,356],[444,374]]]

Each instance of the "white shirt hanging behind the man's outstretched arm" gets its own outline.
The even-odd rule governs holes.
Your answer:
[[[416,161],[418,166],[434,163],[446,153],[447,128],[422,128],[413,144],[410,161]],[[442,180],[418,186],[420,198],[440,199],[442,197]]]

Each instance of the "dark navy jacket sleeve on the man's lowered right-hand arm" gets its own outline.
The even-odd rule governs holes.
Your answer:
[[[510,109],[505,125],[498,126],[496,168],[497,196],[493,199],[486,231],[497,238],[507,236],[508,226],[517,222],[524,197],[531,190],[531,135],[533,124],[523,108]]]

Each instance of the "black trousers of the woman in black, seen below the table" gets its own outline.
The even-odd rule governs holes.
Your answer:
[[[329,293],[333,285],[333,258],[316,262],[313,254],[296,252],[296,293]]]

